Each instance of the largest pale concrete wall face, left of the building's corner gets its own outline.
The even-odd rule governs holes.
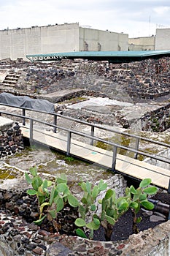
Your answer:
[[[0,31],[0,59],[26,59],[26,54],[79,50],[79,24],[35,26]]]

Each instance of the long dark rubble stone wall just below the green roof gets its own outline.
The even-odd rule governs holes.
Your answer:
[[[11,63],[10,68],[19,64]],[[31,67],[32,66],[32,67]],[[4,62],[0,62],[4,68]],[[147,59],[123,64],[107,61],[56,61],[20,63],[24,71],[15,89],[26,94],[49,94],[66,89],[100,91],[110,99],[139,101],[158,99],[170,93],[170,58]],[[3,88],[5,90],[5,88]],[[13,87],[12,87],[13,90]]]

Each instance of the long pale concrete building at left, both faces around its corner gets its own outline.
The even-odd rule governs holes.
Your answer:
[[[0,31],[0,59],[82,50],[128,50],[128,34],[84,28],[79,23]]]

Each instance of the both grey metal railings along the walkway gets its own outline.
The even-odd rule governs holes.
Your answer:
[[[5,105],[5,104],[0,103],[0,105]],[[71,143],[72,143],[72,134],[74,134],[74,135],[79,135],[81,137],[85,137],[85,138],[90,139],[90,145],[93,145],[94,141],[96,141],[96,142],[101,142],[101,143],[107,144],[108,146],[111,146],[112,147],[112,170],[115,170],[116,159],[117,159],[117,149],[118,148],[123,149],[125,151],[133,152],[135,159],[137,159],[138,155],[142,155],[143,157],[150,157],[151,159],[156,159],[158,161],[166,162],[166,163],[170,164],[170,159],[168,157],[156,156],[156,155],[149,154],[147,152],[139,150],[139,144],[140,144],[141,140],[144,140],[144,141],[150,142],[150,143],[154,143],[155,145],[163,146],[165,148],[170,148],[169,144],[161,143],[161,142],[155,141],[155,140],[150,140],[150,139],[143,138],[143,137],[140,137],[140,136],[137,136],[137,135],[131,135],[131,134],[128,134],[127,132],[119,132],[115,129],[108,129],[106,127],[101,127],[101,125],[98,125],[98,124],[90,124],[86,121],[77,120],[77,119],[71,118],[69,116],[63,116],[59,113],[47,113],[47,112],[41,111],[41,110],[33,110],[33,109],[30,109],[30,108],[22,108],[22,107],[18,107],[18,106],[14,106],[14,105],[7,105],[7,106],[12,107],[12,108],[20,108],[22,110],[23,114],[18,115],[16,113],[9,113],[9,112],[0,110],[0,116],[3,114],[3,115],[7,115],[7,116],[15,116],[15,117],[18,117],[18,118],[22,118],[23,126],[26,126],[26,120],[29,120],[30,140],[33,140],[33,138],[34,138],[34,122],[38,122],[39,124],[45,124],[48,127],[53,127],[53,132],[54,133],[56,133],[57,129],[65,131],[67,133],[67,148],[66,148],[66,154],[67,155],[70,155],[70,148],[71,148]],[[39,112],[39,113],[45,113],[46,115],[52,115],[53,116],[53,124],[50,124],[47,121],[39,120],[37,118],[32,118],[30,116],[26,116],[26,110],[29,110],[29,111],[31,110],[31,111]],[[90,126],[90,135],[86,134],[85,132],[79,132],[75,129],[68,129],[66,127],[58,126],[57,125],[58,117],[65,118],[65,119],[68,119],[70,121],[75,121],[75,122],[80,123],[80,124],[85,124],[86,126]],[[133,138],[133,139],[135,139],[135,147],[132,148],[132,147],[129,147],[129,146],[123,146],[123,145],[120,145],[118,143],[113,143],[112,141],[108,141],[108,140],[98,138],[94,135],[96,128],[101,129],[101,130],[105,130],[105,131],[109,131],[109,132],[115,132],[116,134],[125,135],[125,136],[128,136],[129,138]]]

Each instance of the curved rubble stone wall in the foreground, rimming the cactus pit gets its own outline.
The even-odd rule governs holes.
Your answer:
[[[23,187],[27,186],[24,181]],[[169,255],[170,221],[121,241],[93,241],[77,236],[49,233],[32,223],[37,218],[35,197],[26,190],[0,189],[0,254],[14,255]],[[4,206],[4,208],[3,208]],[[5,211],[6,209],[6,211]],[[22,217],[29,219],[23,221]],[[68,218],[67,218],[68,219]],[[4,240],[5,238],[5,240]],[[69,254],[70,253],[70,254]]]

